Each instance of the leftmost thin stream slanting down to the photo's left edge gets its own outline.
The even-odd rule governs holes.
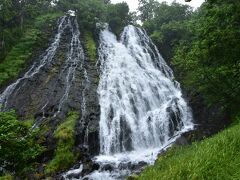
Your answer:
[[[46,50],[45,55],[41,58],[41,60],[39,62],[34,63],[31,66],[31,68],[24,74],[23,77],[19,78],[16,82],[9,85],[5,89],[5,91],[2,94],[0,94],[0,111],[4,111],[6,109],[9,97],[12,95],[12,93],[15,90],[18,90],[17,88],[20,85],[20,82],[22,82],[25,79],[32,78],[35,74],[39,73],[41,68],[43,68],[44,66],[51,63],[51,61],[56,53],[56,50],[59,47],[62,33],[64,32],[64,29],[66,27],[67,27],[66,16],[64,16],[59,21],[58,32],[55,35],[53,43]]]

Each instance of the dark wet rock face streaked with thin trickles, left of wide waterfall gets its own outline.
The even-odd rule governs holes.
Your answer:
[[[34,127],[49,128],[46,156],[53,155],[54,130],[70,111],[78,111],[76,147],[94,155],[99,149],[100,113],[96,62],[84,53],[76,17],[60,18],[57,27],[48,48],[39,50],[25,74],[0,92],[0,107],[15,109],[22,119],[34,119]]]

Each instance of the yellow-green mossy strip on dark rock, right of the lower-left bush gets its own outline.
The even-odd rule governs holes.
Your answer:
[[[57,148],[54,158],[45,168],[47,175],[69,168],[77,159],[77,155],[73,153],[74,146],[74,129],[79,118],[79,113],[70,112],[65,122],[60,124],[54,132],[57,140]]]

